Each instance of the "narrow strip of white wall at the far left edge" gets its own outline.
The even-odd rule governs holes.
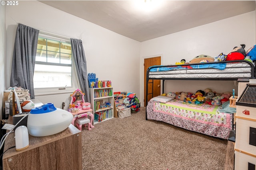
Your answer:
[[[3,114],[3,95],[6,89],[6,7],[0,5],[0,117]]]

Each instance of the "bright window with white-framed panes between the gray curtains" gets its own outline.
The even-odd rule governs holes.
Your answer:
[[[38,37],[34,88],[72,86],[71,44]]]

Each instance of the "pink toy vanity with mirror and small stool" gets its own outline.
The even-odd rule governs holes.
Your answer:
[[[86,126],[86,124],[88,124],[88,130],[94,128],[94,115],[92,113],[92,109],[90,108],[90,103],[84,102],[84,93],[77,89],[70,94],[70,96],[71,100],[68,111],[70,111],[73,115],[73,120],[71,122],[72,125],[77,125],[80,130],[82,130],[82,125]],[[88,120],[90,121],[89,123],[87,123]]]

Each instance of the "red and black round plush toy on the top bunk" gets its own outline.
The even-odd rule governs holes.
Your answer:
[[[244,44],[241,44],[241,47],[234,47],[234,49],[227,55],[226,61],[243,60],[246,55],[244,47]]]

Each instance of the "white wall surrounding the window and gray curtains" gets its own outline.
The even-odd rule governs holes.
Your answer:
[[[140,99],[140,43],[108,29],[57,10],[38,1],[19,1],[7,7],[7,86],[10,86],[11,61],[18,23],[43,32],[82,39],[88,73],[99,80],[111,80],[114,91],[135,92]],[[68,106],[70,94],[36,96],[42,103]]]

